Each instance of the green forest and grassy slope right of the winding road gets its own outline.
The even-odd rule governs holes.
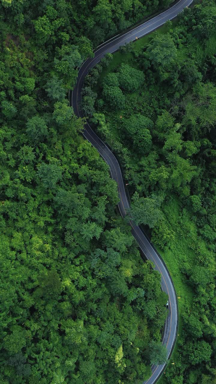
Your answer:
[[[149,228],[179,296],[170,384],[216,383],[215,23],[215,2],[196,3],[96,65],[83,89],[124,168],[128,217]]]

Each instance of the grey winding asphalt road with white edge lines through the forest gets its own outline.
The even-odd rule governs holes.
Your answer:
[[[173,7],[169,8],[165,12],[162,12],[160,15],[153,17],[151,20],[148,20],[145,23],[141,23],[140,25],[130,29],[129,31],[126,31],[125,33],[121,33],[121,35],[114,36],[110,40],[98,46],[94,51],[95,56],[93,58],[88,58],[80,67],[76,86],[73,91],[70,91],[69,93],[69,100],[73,106],[74,113],[79,117],[83,116],[81,111],[81,91],[85,76],[88,74],[91,68],[93,68],[93,66],[95,66],[101,60],[101,58],[106,55],[106,53],[117,51],[121,45],[129,43],[130,41],[134,41],[136,38],[140,38],[155,30],[159,26],[163,25],[167,20],[171,20],[176,17],[178,13],[183,11],[185,7],[188,7],[192,1],[180,0],[178,3],[175,3]],[[95,134],[88,123],[85,125],[85,129],[83,130],[83,136],[98,150],[101,157],[110,167],[111,177],[116,181],[118,185],[118,194],[120,198],[118,207],[121,216],[125,217],[126,210],[130,207],[130,205],[125,192],[121,169],[116,157],[106,146],[106,144],[101,141],[101,139]],[[160,254],[157,252],[145,233],[143,233],[141,228],[135,225],[133,221],[130,222],[130,225],[131,232],[138,242],[138,245],[144,253],[145,257],[149,260],[152,260],[155,265],[155,269],[160,272],[161,288],[168,294],[169,297],[169,314],[164,325],[162,340],[162,343],[166,346],[167,356],[169,358],[176,341],[178,329],[178,306],[173,281],[171,280],[168,269]],[[166,363],[159,366],[153,365],[151,367],[152,375],[147,381],[145,381],[145,384],[155,383],[163,373],[165,366]]]

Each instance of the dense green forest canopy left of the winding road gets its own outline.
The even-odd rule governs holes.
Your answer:
[[[67,102],[92,48],[155,10],[0,2],[1,384],[141,383],[164,361],[160,275]]]

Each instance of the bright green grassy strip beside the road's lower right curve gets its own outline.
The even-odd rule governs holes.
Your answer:
[[[181,272],[181,266],[187,261],[191,266],[196,265],[196,253],[190,248],[191,243],[198,238],[197,228],[194,222],[191,220],[190,213],[179,206],[178,199],[172,196],[169,202],[163,208],[164,216],[168,223],[172,223],[172,229],[175,232],[173,242],[169,245],[169,248],[161,250],[156,247],[163,257],[164,262],[167,265],[169,273],[173,279],[173,283],[176,289],[179,305],[179,336],[177,339],[176,347],[173,351],[171,362],[179,360],[178,346],[181,348],[181,343],[184,338],[182,336],[183,318],[182,313],[184,306],[191,306],[193,302],[193,289],[189,286]],[[183,225],[184,223],[184,225]],[[166,380],[164,374],[159,379],[158,383],[165,384]]]

